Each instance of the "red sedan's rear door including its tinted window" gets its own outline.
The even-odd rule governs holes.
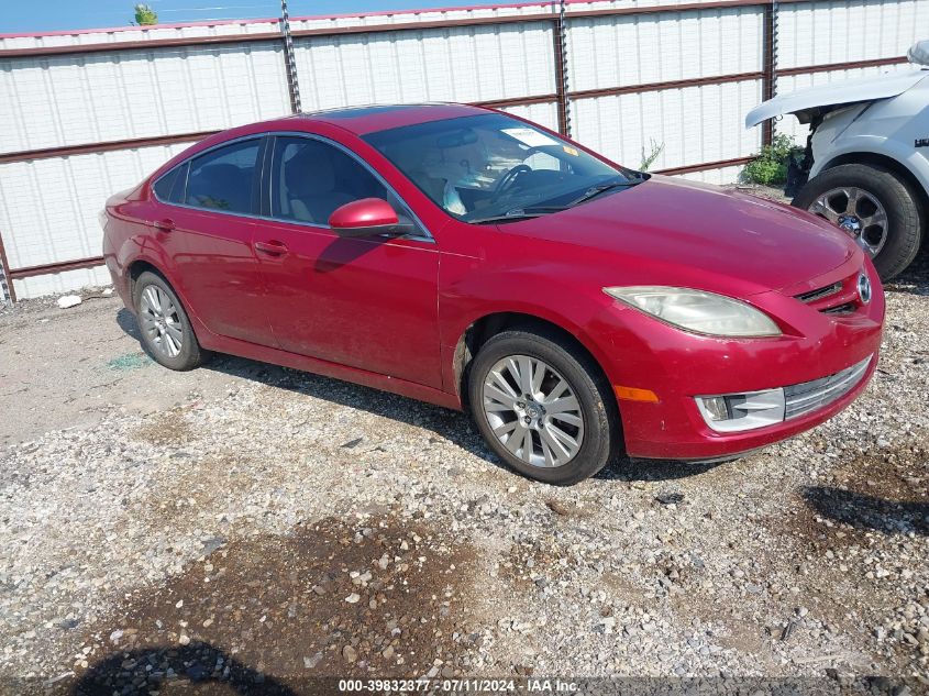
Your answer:
[[[164,216],[158,241],[176,268],[175,281],[213,333],[275,345],[252,247],[259,206],[265,139],[248,137],[202,153],[155,183]],[[168,183],[168,181],[166,181]]]

